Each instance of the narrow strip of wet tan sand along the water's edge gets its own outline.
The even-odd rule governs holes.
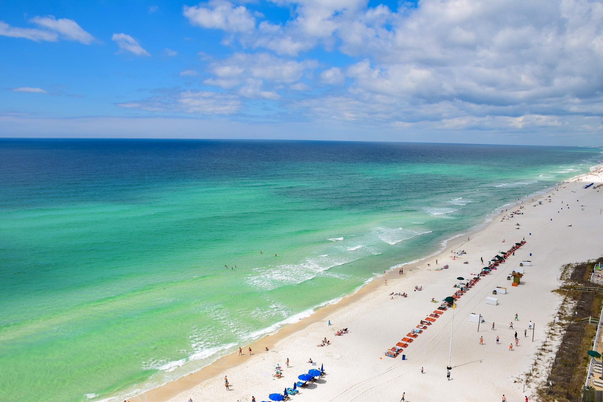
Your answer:
[[[555,183],[551,187],[546,187],[543,190],[538,190],[535,193],[525,195],[520,198],[516,204],[519,206],[519,204],[522,204],[523,201],[528,201],[529,198],[537,198],[549,195],[555,192],[555,189],[557,189],[558,186],[561,186],[562,184],[566,183],[571,183],[572,181],[575,181],[576,179],[581,177],[586,177],[587,175],[592,174],[593,171],[596,171],[596,169],[602,168],[603,165],[595,165],[589,168],[590,171],[588,173],[576,175],[560,183]],[[429,254],[426,257],[422,257],[421,259],[417,259],[407,263],[399,263],[394,266],[391,266],[390,268],[386,269],[387,272],[385,274],[374,275],[369,280],[367,280],[367,283],[363,284],[362,286],[359,286],[351,294],[335,298],[331,301],[327,301],[322,306],[319,305],[317,307],[314,307],[311,309],[314,311],[313,313],[311,313],[311,315],[305,318],[301,318],[297,322],[283,324],[275,331],[273,331],[273,333],[268,333],[265,336],[262,336],[262,338],[251,342],[251,344],[242,346],[242,348],[244,350],[247,350],[247,348],[251,347],[253,350],[259,350],[260,352],[258,354],[264,353],[264,347],[268,347],[270,348],[270,350],[273,350],[275,345],[285,340],[289,336],[299,333],[313,324],[323,322],[327,319],[327,317],[334,316],[336,313],[346,309],[346,307],[350,307],[358,301],[362,300],[363,298],[374,294],[380,288],[380,286],[383,285],[385,280],[390,281],[390,283],[392,281],[397,282],[398,280],[408,281],[420,272],[429,271],[429,269],[426,269],[427,267],[421,266],[425,265],[426,260],[437,258],[443,261],[444,258],[449,256],[449,253],[446,253],[449,248],[452,248],[452,250],[457,250],[459,247],[462,247],[464,244],[467,243],[468,240],[465,240],[464,236],[469,236],[471,239],[473,239],[474,235],[478,235],[479,233],[487,231],[490,227],[496,225],[496,218],[497,216],[500,216],[500,213],[497,212],[497,210],[501,208],[504,209],[505,207],[512,205],[513,203],[511,202],[504,204],[504,206],[497,207],[493,210],[493,212],[488,213],[485,216],[483,222],[473,225],[470,230],[463,231],[462,233],[458,233],[455,236],[450,237],[449,239],[442,240],[441,247],[438,248],[437,251],[434,251],[434,253]],[[405,270],[404,274],[395,274],[394,271],[397,268],[403,268]],[[256,356],[256,354],[254,354],[254,356]],[[180,377],[177,380],[167,382],[164,385],[150,389],[149,391],[145,391],[142,394],[130,397],[129,400],[132,402],[159,402],[171,400],[171,398],[176,397],[178,394],[188,392],[196,386],[203,385],[208,380],[215,378],[216,375],[218,375],[219,373],[244,365],[245,363],[247,363],[247,359],[239,359],[238,354],[236,353],[236,351],[234,351],[233,353],[229,353],[225,356],[218,357],[209,365],[204,366],[203,368],[200,368],[197,371],[192,372],[191,374]]]

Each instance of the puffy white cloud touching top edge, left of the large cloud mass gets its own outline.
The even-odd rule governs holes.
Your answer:
[[[192,25],[215,28],[227,32],[248,32],[255,28],[256,20],[244,5],[235,6],[225,0],[183,7],[183,14]]]

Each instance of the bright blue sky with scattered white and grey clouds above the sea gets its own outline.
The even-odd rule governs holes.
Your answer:
[[[1,137],[603,145],[603,2],[0,1]]]

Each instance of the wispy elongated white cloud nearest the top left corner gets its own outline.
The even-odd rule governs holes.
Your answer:
[[[33,17],[30,22],[37,24],[40,28],[17,28],[11,27],[3,21],[0,21],[0,36],[15,38],[24,38],[40,42],[57,42],[60,39],[74,40],[75,42],[89,45],[94,37],[84,31],[80,25],[72,19],[60,18],[54,16]]]

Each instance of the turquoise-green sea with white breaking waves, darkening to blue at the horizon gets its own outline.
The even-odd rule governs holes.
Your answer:
[[[123,400],[181,377],[600,152],[0,140],[0,400]]]

